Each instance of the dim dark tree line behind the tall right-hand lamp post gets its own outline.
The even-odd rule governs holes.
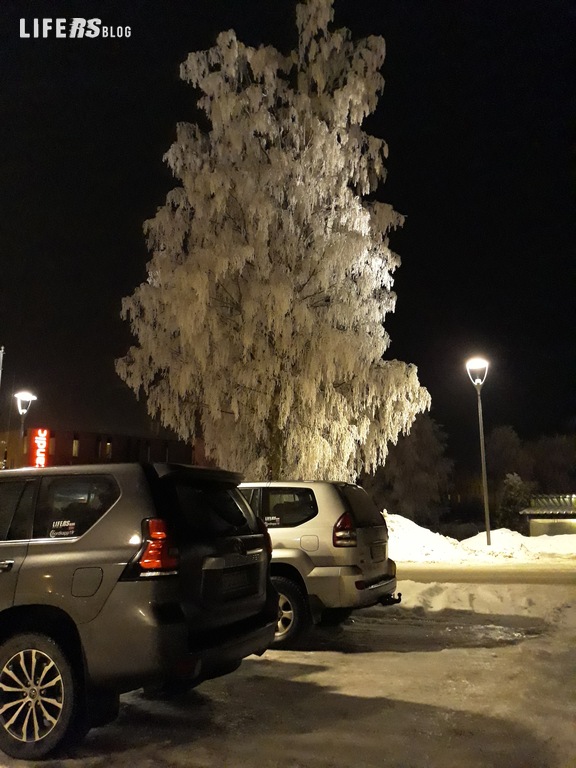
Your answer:
[[[465,501],[457,506],[455,462],[446,454],[443,428],[428,414],[418,416],[409,435],[389,448],[386,464],[362,485],[379,509],[438,527],[452,512],[462,519],[481,516],[480,467],[477,482],[468,478]],[[576,437],[543,436],[522,440],[511,426],[493,429],[486,438],[486,467],[493,527],[520,529],[519,510],[533,494],[576,493]]]

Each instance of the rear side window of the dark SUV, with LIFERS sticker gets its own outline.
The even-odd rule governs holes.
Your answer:
[[[82,536],[120,496],[109,475],[46,476],[42,478],[33,538]]]

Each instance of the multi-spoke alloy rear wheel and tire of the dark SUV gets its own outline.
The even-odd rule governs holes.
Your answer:
[[[39,760],[64,748],[78,736],[83,709],[75,670],[54,640],[23,633],[0,645],[3,752]]]

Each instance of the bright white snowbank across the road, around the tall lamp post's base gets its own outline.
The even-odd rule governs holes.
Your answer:
[[[576,534],[528,537],[498,528],[491,531],[488,547],[486,533],[458,541],[422,528],[401,515],[386,513],[385,517],[390,532],[390,557],[398,563],[542,562],[576,557]]]

